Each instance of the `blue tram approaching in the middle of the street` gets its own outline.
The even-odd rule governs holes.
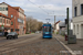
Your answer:
[[[50,23],[45,23],[42,25],[42,37],[52,38],[52,25]]]

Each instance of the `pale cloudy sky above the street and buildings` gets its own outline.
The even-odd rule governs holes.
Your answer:
[[[66,19],[66,8],[70,8],[70,19],[72,19],[72,0],[0,0],[12,7],[20,7],[27,16],[33,16],[41,22],[50,23],[64,21]]]

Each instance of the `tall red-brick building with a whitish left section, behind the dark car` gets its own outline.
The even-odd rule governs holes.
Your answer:
[[[11,7],[2,2],[0,3],[0,12],[11,18],[11,32],[25,34],[25,14],[20,7]]]

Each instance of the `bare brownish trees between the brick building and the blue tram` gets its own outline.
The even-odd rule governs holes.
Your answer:
[[[27,33],[35,32],[42,30],[42,22],[33,19],[32,16],[27,16]]]

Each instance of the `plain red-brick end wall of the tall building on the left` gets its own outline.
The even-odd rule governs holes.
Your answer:
[[[11,14],[13,15],[13,18],[11,18]],[[13,29],[14,31],[14,22],[15,22],[15,29],[18,29],[18,16],[19,16],[18,11],[14,8],[8,6],[8,16],[10,16],[11,22],[13,22],[13,24],[11,25],[11,29]]]

